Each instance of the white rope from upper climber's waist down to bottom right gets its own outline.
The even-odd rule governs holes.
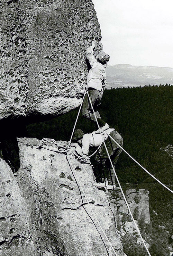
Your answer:
[[[144,239],[143,239],[143,237],[142,237],[141,234],[140,234],[139,228],[138,228],[138,226],[137,226],[137,224],[136,224],[136,222],[135,222],[135,220],[134,220],[134,217],[133,217],[133,215],[132,215],[132,213],[131,213],[131,210],[130,210],[130,207],[129,207],[128,203],[127,203],[127,200],[126,200],[126,197],[125,197],[125,195],[124,195],[124,192],[123,192],[123,190],[122,190],[122,188],[121,188],[121,184],[120,184],[120,182],[119,182],[119,180],[118,180],[118,176],[117,176],[117,174],[116,174],[116,172],[115,172],[115,168],[113,167],[112,161],[111,161],[111,159],[110,159],[110,155],[109,155],[108,149],[107,149],[107,147],[106,147],[106,143],[104,142],[103,135],[102,135],[102,133],[101,133],[100,126],[99,126],[99,124],[98,124],[97,117],[96,117],[96,115],[95,115],[95,112],[94,112],[94,109],[93,109],[92,102],[91,102],[91,99],[90,99],[90,96],[89,96],[88,91],[87,91],[87,94],[88,94],[88,98],[89,98],[89,101],[90,101],[90,104],[91,104],[91,107],[92,107],[92,111],[93,111],[93,113],[94,113],[95,121],[96,121],[96,123],[97,123],[97,125],[98,125],[100,134],[101,134],[101,136],[102,136],[102,140],[103,140],[103,143],[104,143],[104,147],[105,147],[106,152],[107,152],[107,154],[108,154],[108,157],[109,157],[109,160],[110,160],[110,163],[111,163],[113,172],[114,172],[114,174],[115,174],[115,176],[116,176],[118,185],[119,185],[119,187],[120,187],[121,193],[122,193],[122,195],[123,195],[123,197],[124,197],[125,203],[126,203],[126,205],[127,205],[127,208],[128,208],[128,210],[129,210],[129,213],[130,213],[130,215],[131,215],[131,218],[132,218],[132,220],[133,220],[133,222],[134,222],[134,224],[135,224],[135,226],[136,226],[136,229],[137,229],[137,231],[138,231],[138,233],[139,233],[139,236],[140,236],[140,238],[141,238],[141,240],[142,240],[142,242],[143,242],[143,244],[144,244],[144,247],[145,247],[145,249],[146,249],[148,255],[151,256],[151,254],[149,253],[149,250],[148,250],[148,248],[147,248],[147,246],[146,246],[146,244],[145,244],[145,242],[144,242]]]

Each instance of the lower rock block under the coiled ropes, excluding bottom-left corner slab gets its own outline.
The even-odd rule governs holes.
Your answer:
[[[39,253],[51,256],[113,256],[90,205],[118,256],[124,256],[117,236],[116,216],[106,193],[93,186],[91,165],[82,165],[70,156],[75,174],[65,154],[37,149],[36,140],[32,138],[20,138],[18,145],[21,166],[16,179],[28,206],[33,240]],[[89,205],[79,182],[76,182],[76,175]]]

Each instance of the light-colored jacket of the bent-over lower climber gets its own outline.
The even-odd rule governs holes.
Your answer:
[[[108,138],[108,134],[110,134],[115,129],[107,129],[106,131],[102,132],[104,140]],[[101,134],[96,134],[95,132],[86,133],[83,135],[82,140],[82,152],[84,155],[88,155],[89,147],[99,147],[102,143],[102,136]]]

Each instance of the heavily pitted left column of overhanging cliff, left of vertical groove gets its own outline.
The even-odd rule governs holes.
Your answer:
[[[0,1],[0,119],[25,115],[28,92],[26,39],[17,1]]]

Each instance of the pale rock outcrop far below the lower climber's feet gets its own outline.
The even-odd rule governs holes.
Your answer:
[[[150,223],[148,194],[149,191],[145,189],[128,189],[125,193],[131,213],[138,226]],[[128,234],[129,236],[134,236],[137,239],[137,243],[141,243],[138,231],[128,213],[128,208],[120,188],[116,188],[114,191],[109,192],[109,198],[114,206],[114,212],[118,219],[117,225],[119,236],[124,237]],[[148,244],[147,246],[149,247]]]

